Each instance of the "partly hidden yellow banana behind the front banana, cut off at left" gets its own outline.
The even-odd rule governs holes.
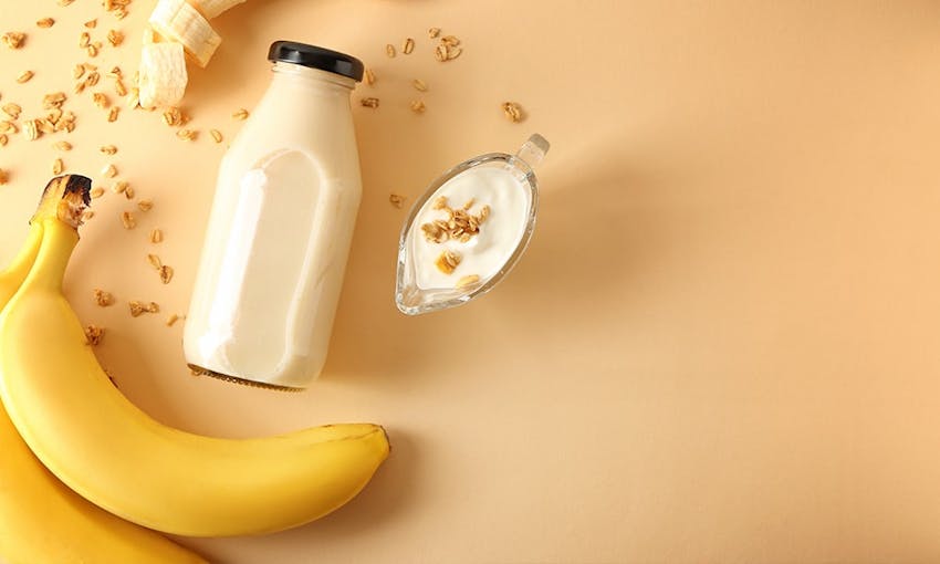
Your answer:
[[[0,272],[0,310],[27,279],[42,241],[41,218],[56,211],[65,184],[53,180],[50,187],[27,242],[10,268]],[[205,564],[196,554],[102,510],[65,487],[36,460],[2,407],[0,452],[0,561]]]

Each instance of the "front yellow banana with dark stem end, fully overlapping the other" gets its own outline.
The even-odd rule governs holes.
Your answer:
[[[165,427],[130,404],[85,345],[61,292],[84,208],[73,203],[42,219],[35,264],[0,314],[0,396],[52,473],[112,513],[189,536],[289,529],[368,483],[388,456],[376,425],[228,440]]]

